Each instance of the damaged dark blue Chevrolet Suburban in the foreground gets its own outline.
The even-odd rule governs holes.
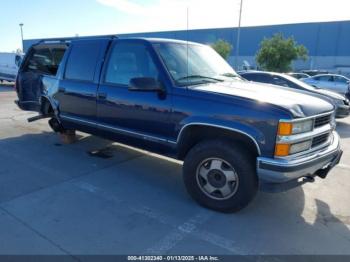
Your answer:
[[[325,178],[342,151],[334,107],[243,80],[210,47],[104,36],[42,41],[16,80],[30,121],[94,134],[183,160],[189,194],[235,212],[260,188]],[[166,175],[166,174],[164,174]]]

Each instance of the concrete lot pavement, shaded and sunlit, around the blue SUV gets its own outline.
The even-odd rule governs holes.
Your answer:
[[[326,180],[221,214],[179,163],[82,133],[62,145],[14,99],[0,87],[0,254],[350,254],[350,118]]]

